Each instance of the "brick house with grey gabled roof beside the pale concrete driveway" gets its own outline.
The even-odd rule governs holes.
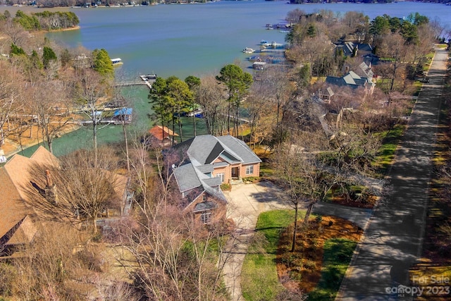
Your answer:
[[[259,157],[245,142],[230,135],[193,137],[166,152],[166,158],[171,155],[177,156],[173,158],[173,173],[183,210],[198,216],[202,223],[226,216],[227,199],[221,184],[260,173]]]

